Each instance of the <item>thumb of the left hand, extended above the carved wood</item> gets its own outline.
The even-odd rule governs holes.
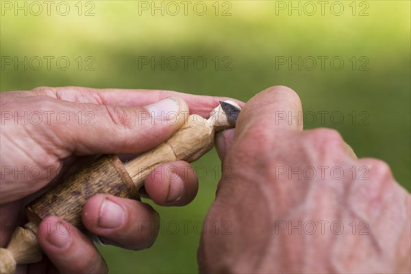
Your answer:
[[[134,108],[66,101],[60,104],[70,114],[68,123],[60,121],[51,126],[60,158],[147,151],[173,135],[189,114],[186,102],[175,97]]]

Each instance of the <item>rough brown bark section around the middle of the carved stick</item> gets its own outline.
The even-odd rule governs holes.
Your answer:
[[[38,197],[27,207],[30,221],[40,223],[46,216],[59,216],[84,230],[82,209],[88,198],[98,193],[136,199],[138,192],[116,155],[103,155],[62,184]]]

